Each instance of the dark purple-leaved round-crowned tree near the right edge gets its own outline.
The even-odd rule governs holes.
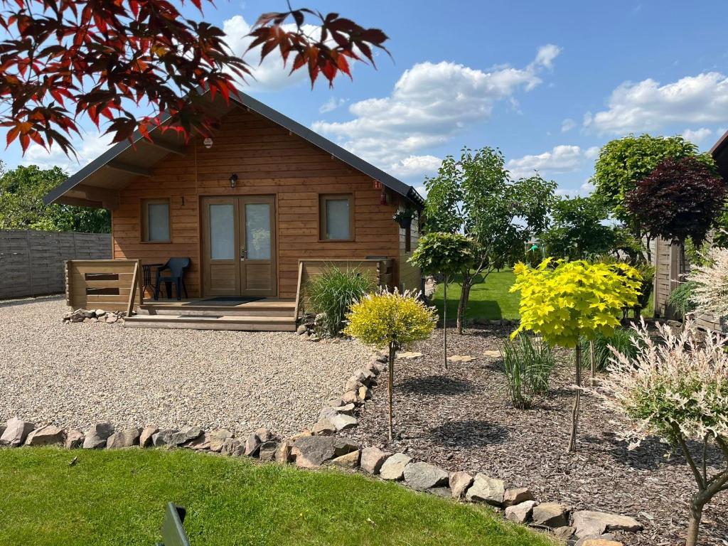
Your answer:
[[[723,210],[727,186],[694,157],[665,159],[628,192],[625,205],[649,237],[700,246]],[[680,272],[685,271],[684,250]]]

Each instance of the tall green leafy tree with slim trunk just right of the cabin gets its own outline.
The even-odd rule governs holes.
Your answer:
[[[462,333],[470,288],[506,264],[548,226],[556,183],[538,174],[513,181],[499,149],[463,148],[460,159],[443,159],[438,175],[427,178],[428,231],[462,233],[473,241],[475,262],[462,269],[457,329]]]

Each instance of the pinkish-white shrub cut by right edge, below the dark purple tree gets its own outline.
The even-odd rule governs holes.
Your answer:
[[[688,280],[695,282],[696,312],[728,317],[728,248],[712,247],[705,264],[692,266]]]

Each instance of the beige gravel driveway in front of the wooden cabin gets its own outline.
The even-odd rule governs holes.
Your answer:
[[[147,330],[63,324],[63,298],[0,302],[0,419],[84,429],[267,427],[317,421],[371,352],[290,332]]]

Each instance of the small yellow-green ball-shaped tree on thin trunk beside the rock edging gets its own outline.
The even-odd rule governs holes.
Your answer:
[[[415,341],[428,339],[437,323],[435,309],[417,298],[416,293],[380,290],[352,305],[344,328],[363,344],[389,351],[389,440],[392,440],[392,388],[395,379],[395,353]]]

